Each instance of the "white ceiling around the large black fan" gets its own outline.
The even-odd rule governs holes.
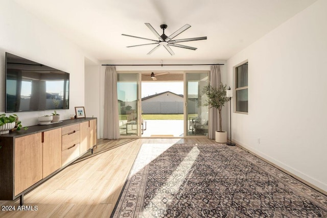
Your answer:
[[[76,43],[90,57],[108,63],[211,62],[227,60],[316,0],[14,0]],[[196,51],[155,45],[127,48],[156,39],[151,23],[169,36],[188,23],[192,27],[175,39],[207,36],[207,40],[180,42]]]

